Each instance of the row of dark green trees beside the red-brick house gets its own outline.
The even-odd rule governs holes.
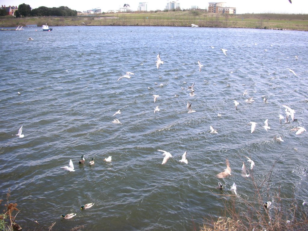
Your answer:
[[[31,10],[30,5],[25,3],[18,6],[18,10],[15,11],[16,17],[29,17],[29,16],[77,16],[76,10],[71,10],[67,6],[60,7],[46,7],[40,6]]]

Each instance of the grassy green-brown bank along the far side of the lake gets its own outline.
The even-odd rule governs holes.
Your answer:
[[[209,14],[203,11],[115,13],[76,17],[0,18],[0,27],[41,26],[191,26],[308,31],[306,14]]]

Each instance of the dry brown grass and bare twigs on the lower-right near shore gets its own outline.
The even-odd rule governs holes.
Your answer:
[[[270,188],[270,179],[280,157],[261,182],[255,180],[253,171],[249,172],[254,190],[251,199],[242,198],[239,194],[236,196],[214,193],[220,199],[226,199],[222,215],[218,218],[205,218],[205,224],[201,227],[201,231],[308,230],[308,217],[305,211],[298,208],[297,201],[294,198],[291,200],[282,198],[280,187]],[[265,208],[265,202],[270,202],[271,205],[267,204],[267,208]],[[244,203],[245,209],[239,209],[237,203]]]

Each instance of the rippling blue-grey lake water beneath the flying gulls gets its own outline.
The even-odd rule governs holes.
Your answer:
[[[221,215],[225,199],[213,194],[220,193],[218,181],[224,193],[236,182],[238,195],[252,199],[252,183],[240,175],[244,156],[255,161],[257,182],[281,156],[270,197],[274,201],[280,187],[283,198],[294,197],[305,209],[308,133],[290,129],[308,128],[307,32],[63,26],[0,36],[0,198],[11,188],[22,227],[33,229],[37,220],[44,227],[56,222],[55,230],[192,230],[193,221],[198,227],[204,217]],[[135,75],[117,83],[126,71]],[[193,83],[196,96],[189,97]],[[245,103],[248,97],[255,102]],[[188,100],[197,112],[187,113]],[[297,121],[280,125],[283,104],[296,111]],[[121,124],[112,124],[115,118]],[[257,123],[253,134],[250,121]],[[24,138],[12,136],[22,125]],[[217,135],[209,134],[210,125]],[[157,149],[173,157],[161,165]],[[179,163],[185,151],[187,165]],[[81,155],[86,164],[78,164]],[[103,161],[108,156],[111,163]],[[233,176],[217,179],[226,158]],[[75,172],[60,168],[70,159]],[[90,202],[91,209],[80,211]],[[236,205],[245,208],[240,199]],[[63,220],[63,213],[77,216]]]

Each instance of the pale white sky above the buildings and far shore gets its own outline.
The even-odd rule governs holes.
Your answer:
[[[125,3],[130,5],[131,10],[137,10],[139,2],[147,2],[148,10],[164,10],[167,0],[88,0],[88,1],[76,1],[76,0],[1,0],[1,5],[6,6],[19,6],[22,3],[30,5],[32,9],[39,6],[46,7],[59,7],[67,6],[72,10],[85,11],[95,8],[100,8],[102,12],[108,10],[118,10],[123,7]],[[176,1],[176,0],[175,0]],[[201,0],[178,0],[181,9],[189,9],[191,6],[198,6],[201,9],[207,9],[209,2]],[[220,2],[220,1],[217,1]],[[237,14],[245,13],[283,13],[283,14],[308,14],[308,0],[292,0],[292,4],[289,0],[226,0],[226,5],[229,7],[236,7]]]

